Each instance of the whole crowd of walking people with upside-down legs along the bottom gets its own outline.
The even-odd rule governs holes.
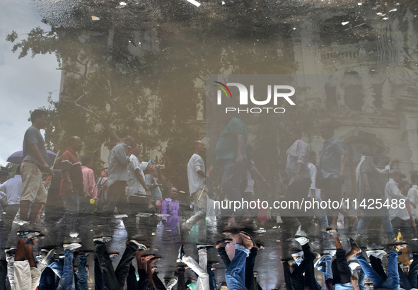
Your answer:
[[[163,197],[163,166],[143,161],[141,146],[133,137],[123,137],[113,146],[108,156],[108,170],[96,180],[92,156],[79,158],[83,146],[80,137],[69,138],[66,151],[54,163],[54,168],[50,168],[40,133],[40,129],[47,127],[47,113],[34,110],[30,120],[32,126],[25,132],[23,160],[16,174],[10,179],[1,176],[1,232],[9,233],[16,227],[18,231],[13,245],[7,238],[1,238],[6,260],[0,261],[0,290],[7,287],[88,289],[88,256],[94,257],[95,289],[170,290],[176,286],[179,290],[219,287],[258,290],[261,286],[257,283],[255,262],[258,251],[264,249],[267,242],[255,241],[257,235],[252,222],[261,211],[215,209],[213,199],[256,199],[253,187],[248,190],[251,180],[258,188],[274,192],[278,200],[339,202],[344,196],[347,146],[335,139],[334,127],[329,123],[320,126],[320,135],[325,141],[318,155],[302,140],[301,129],[289,129],[291,146],[286,151],[286,170],[281,173],[280,182],[272,187],[252,160],[244,122],[231,114],[221,115],[219,122],[223,129],[214,149],[214,170],[219,170],[221,176],[220,193],[211,192],[216,188],[214,180],[209,180],[213,175],[212,166],[206,170],[206,146],[197,140],[191,144],[194,152],[187,163],[190,203],[184,204],[179,201],[176,187],[170,187],[168,197]],[[381,199],[396,207],[356,212],[339,207],[314,209],[308,214],[299,209],[279,210],[284,228],[290,228],[283,233],[284,237],[291,238],[294,245],[301,248],[292,253],[291,258],[281,259],[286,289],[365,289],[367,284],[373,284],[374,289],[418,287],[418,175],[411,175],[411,187],[402,180],[406,178],[402,172],[392,169],[397,162],[393,159],[380,169],[373,163],[373,154],[364,151],[355,176],[359,200],[376,202]],[[54,200],[62,203],[62,212],[54,210]],[[185,216],[187,219],[183,219]],[[341,216],[345,217],[344,224],[340,223]],[[380,239],[370,246],[365,237],[369,226],[376,224],[372,223],[376,218],[381,220],[385,243],[383,245]],[[123,221],[127,239],[124,253],[114,267],[117,254],[109,252],[106,244],[114,243],[112,225],[119,219]],[[207,228],[207,221],[215,221],[219,228],[211,238],[206,234],[200,236]],[[172,235],[175,243],[181,244],[177,271],[164,282],[154,265],[161,257],[151,253],[151,245],[144,242],[144,236],[149,233],[146,227],[156,228],[158,223],[163,223],[167,229],[164,235]],[[94,228],[91,231],[95,236],[89,241],[93,242],[92,248],[86,246],[89,244],[88,235],[83,233],[86,224]],[[199,228],[199,241],[195,240],[197,260],[186,255],[182,245],[193,227]],[[35,245],[54,232],[50,228],[62,228],[64,241],[79,240],[64,243],[59,248],[41,249],[40,255],[35,255],[38,248]],[[342,235],[347,236],[347,241],[340,240]],[[348,251],[344,250],[345,244],[349,245]],[[213,251],[213,254],[215,249],[225,267],[223,282],[219,285],[215,274],[218,262],[208,260],[208,253]],[[189,251],[190,248],[187,254]],[[407,263],[407,274],[397,264],[402,251],[412,258],[407,259],[411,260]],[[382,266],[384,257],[388,257],[387,274]],[[137,267],[132,263],[134,260]],[[185,276],[187,268],[195,277]],[[315,268],[323,272],[322,285]],[[219,275],[217,277],[219,279]],[[365,282],[365,277],[369,282]]]

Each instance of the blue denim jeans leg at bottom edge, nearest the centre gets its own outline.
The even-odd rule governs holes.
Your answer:
[[[250,250],[243,245],[236,245],[235,257],[225,272],[228,289],[241,290],[245,288],[245,260],[249,253]]]

